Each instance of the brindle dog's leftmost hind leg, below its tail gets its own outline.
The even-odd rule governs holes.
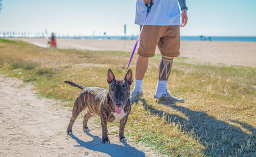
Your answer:
[[[85,109],[85,107],[82,106],[82,102],[77,98],[75,100],[74,106],[73,106],[73,110],[72,110],[72,117],[70,118],[69,121],[69,126],[67,128],[67,134],[72,135],[72,126],[75,122],[75,119],[77,118],[77,116]]]

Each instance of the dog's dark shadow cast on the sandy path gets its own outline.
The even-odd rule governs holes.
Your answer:
[[[103,144],[101,143],[101,138],[98,136],[94,136],[90,134],[89,132],[85,132],[88,136],[93,138],[92,141],[83,141],[77,138],[75,135],[70,135],[72,139],[74,139],[78,144],[75,145],[76,147],[85,147],[91,151],[97,151],[102,152],[105,154],[110,155],[111,157],[125,157],[125,156],[141,156],[145,157],[145,153],[142,151],[139,151],[138,149],[130,146],[126,142],[122,142],[123,145],[118,144]]]

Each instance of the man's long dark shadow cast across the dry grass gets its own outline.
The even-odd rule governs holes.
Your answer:
[[[244,132],[241,128],[218,120],[204,112],[193,111],[188,108],[173,104],[165,104],[182,112],[188,119],[176,114],[167,114],[156,110],[145,99],[141,99],[145,110],[164,117],[168,123],[181,125],[181,129],[187,134],[194,134],[194,139],[205,146],[205,154],[210,156],[256,156],[256,128],[243,122],[229,120],[241,125],[250,133]],[[193,133],[194,132],[194,133]],[[250,140],[250,141],[249,141]]]

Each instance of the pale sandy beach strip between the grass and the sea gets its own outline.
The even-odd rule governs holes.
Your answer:
[[[47,46],[47,39],[17,38],[14,40],[26,41],[41,47]],[[131,52],[135,42],[135,40],[57,39],[57,47]],[[160,53],[158,47],[156,47],[156,53]],[[187,57],[189,61],[203,64],[256,67],[256,42],[181,41],[180,53],[181,57]]]

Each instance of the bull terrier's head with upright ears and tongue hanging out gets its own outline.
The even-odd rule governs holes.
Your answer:
[[[120,114],[123,106],[130,96],[130,87],[132,83],[131,69],[125,75],[125,80],[116,80],[114,73],[108,71],[109,96],[115,106],[115,111]]]

